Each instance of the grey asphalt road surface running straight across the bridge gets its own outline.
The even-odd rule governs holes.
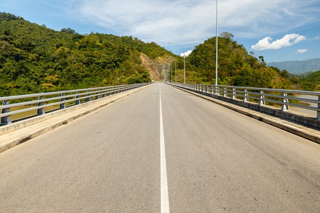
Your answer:
[[[0,153],[0,212],[165,213],[162,134],[170,212],[320,212],[318,144],[163,83]]]

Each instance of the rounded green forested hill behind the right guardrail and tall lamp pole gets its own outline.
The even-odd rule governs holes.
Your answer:
[[[197,74],[190,81],[214,83],[215,47],[216,38],[213,37],[196,46],[188,56],[188,68]],[[234,41],[232,34],[222,33],[218,38],[218,84],[290,88],[292,82],[285,70],[267,67],[262,56],[258,60]]]

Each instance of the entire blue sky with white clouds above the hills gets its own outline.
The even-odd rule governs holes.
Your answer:
[[[10,4],[10,8],[9,8]],[[216,34],[214,0],[0,0],[0,11],[54,30],[132,35],[180,55]],[[218,0],[218,34],[266,62],[320,58],[319,0]]]

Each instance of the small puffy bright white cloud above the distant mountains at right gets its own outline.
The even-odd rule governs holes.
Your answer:
[[[272,41],[272,38],[270,36],[265,37],[264,39],[261,39],[256,43],[255,45],[252,45],[251,48],[253,50],[277,50],[284,48],[286,46],[291,46],[292,44],[299,43],[302,40],[305,40],[306,37],[299,34],[287,34],[283,36],[281,39],[277,39],[276,41]]]

